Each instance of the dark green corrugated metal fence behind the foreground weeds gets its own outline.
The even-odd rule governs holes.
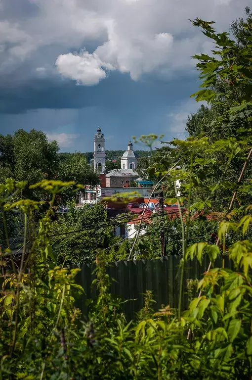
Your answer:
[[[181,256],[166,256],[162,259],[119,261],[108,264],[107,273],[114,279],[111,285],[112,294],[121,296],[123,300],[129,300],[122,305],[128,319],[134,318],[135,313],[143,307],[143,293],[146,290],[153,290],[156,301],[153,304],[155,310],[160,309],[162,305],[178,306],[180,259]],[[221,267],[221,265],[222,258],[219,257],[215,262],[215,266]],[[182,300],[183,309],[188,307],[187,279],[200,280],[208,266],[208,256],[203,256],[202,266],[196,259],[186,263]],[[228,258],[225,260],[225,267],[230,268]],[[86,299],[95,299],[97,294],[95,288],[91,289],[91,283],[94,279],[93,270],[93,264],[84,264],[81,266],[81,272],[77,277],[77,283],[82,285],[85,291],[85,294],[78,300],[78,307],[84,315],[88,313],[85,305]],[[133,300],[135,298],[136,300]]]

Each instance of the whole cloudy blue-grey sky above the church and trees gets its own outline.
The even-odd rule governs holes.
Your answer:
[[[42,130],[60,151],[132,135],[185,138],[212,44],[190,19],[228,31],[248,0],[0,0],[0,133]],[[134,149],[144,148],[135,145]]]

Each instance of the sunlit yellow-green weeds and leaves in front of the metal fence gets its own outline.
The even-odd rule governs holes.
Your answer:
[[[19,262],[10,250],[1,252],[1,379],[212,379],[213,373],[216,379],[250,379],[251,241],[229,248],[235,271],[223,267],[205,274],[199,283],[202,295],[180,318],[169,306],[153,314],[148,292],[137,322],[126,321],[121,301],[109,293],[101,252],[94,281],[99,295],[83,321],[75,307],[83,291],[75,282],[79,270],[53,264],[52,203],[34,231],[30,221],[39,204],[28,199],[9,205],[13,190],[14,183],[1,186],[1,212],[16,208],[23,214],[27,245]],[[55,194],[53,182],[48,190]],[[244,222],[233,230],[245,232],[251,217]],[[214,262],[217,253],[215,245],[199,243],[189,247],[185,259],[209,254]],[[13,270],[6,267],[6,258]]]

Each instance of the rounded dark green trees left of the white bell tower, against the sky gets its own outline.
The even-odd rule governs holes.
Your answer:
[[[42,131],[22,129],[13,135],[0,135],[0,183],[8,178],[17,182],[25,181],[27,187],[23,196],[36,200],[46,200],[33,185],[44,179],[74,181],[77,184],[96,185],[98,175],[88,165],[82,153],[65,153],[61,156],[56,141],[48,142]],[[61,201],[76,198],[76,193],[66,190],[61,193]]]

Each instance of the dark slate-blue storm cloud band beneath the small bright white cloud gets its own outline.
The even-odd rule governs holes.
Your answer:
[[[5,79],[5,84],[8,79]],[[111,110],[126,108],[128,113],[136,106],[144,109],[150,105],[169,105],[188,93],[194,82],[191,80],[161,82],[158,80],[134,82],[128,75],[112,73],[99,86],[77,86],[65,79],[36,79],[22,83],[13,80],[12,85],[0,85],[0,113],[18,114],[38,108],[62,109],[106,106]],[[10,83],[10,82],[9,82]],[[172,93],[170,92],[170,89]],[[128,107],[130,107],[128,109]]]

